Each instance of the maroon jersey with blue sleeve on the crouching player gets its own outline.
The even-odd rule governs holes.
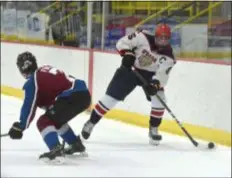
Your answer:
[[[74,81],[74,80],[73,80]],[[20,124],[23,129],[29,127],[37,107],[47,109],[54,104],[58,96],[66,94],[73,86],[72,79],[61,70],[51,66],[38,68],[25,82],[24,102],[21,108]]]

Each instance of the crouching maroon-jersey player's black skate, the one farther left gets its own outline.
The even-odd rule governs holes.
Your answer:
[[[46,152],[39,156],[40,160],[44,160],[45,162],[53,162],[57,164],[62,164],[64,162],[64,152],[63,146],[57,145],[50,152]]]

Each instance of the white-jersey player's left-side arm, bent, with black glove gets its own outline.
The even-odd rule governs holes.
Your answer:
[[[122,56],[122,65],[128,69],[134,65],[135,49],[139,44],[140,32],[134,32],[119,39],[116,44],[118,53]]]

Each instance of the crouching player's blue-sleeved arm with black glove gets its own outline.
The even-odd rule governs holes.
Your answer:
[[[21,139],[22,132],[29,127],[31,121],[34,119],[37,108],[36,100],[38,90],[36,73],[28,79],[23,90],[25,97],[21,107],[19,122],[15,122],[9,131],[9,136],[12,139]]]

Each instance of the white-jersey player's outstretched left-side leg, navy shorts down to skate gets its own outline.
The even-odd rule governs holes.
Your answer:
[[[98,101],[91,112],[90,119],[84,124],[81,132],[82,137],[88,139],[94,126],[101,118],[119,101],[123,101],[137,84],[138,80],[132,71],[124,67],[118,68],[108,85],[105,96]]]

